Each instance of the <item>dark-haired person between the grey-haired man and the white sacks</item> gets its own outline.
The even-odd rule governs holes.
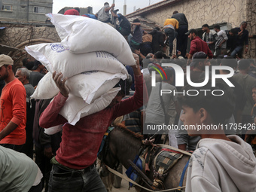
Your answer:
[[[29,78],[29,84],[32,84],[33,87],[37,86],[41,78],[44,77],[44,75],[41,74],[42,70],[44,70],[44,65],[42,65],[41,62],[35,60],[34,66],[32,68],[32,72],[30,72],[30,78]]]

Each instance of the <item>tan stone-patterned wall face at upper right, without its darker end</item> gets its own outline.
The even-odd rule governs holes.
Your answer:
[[[144,17],[163,25],[173,11],[184,13],[189,23],[189,28],[200,28],[207,23],[231,23],[239,26],[246,20],[246,3],[243,0],[184,0],[174,5],[166,6],[158,11],[145,14]]]

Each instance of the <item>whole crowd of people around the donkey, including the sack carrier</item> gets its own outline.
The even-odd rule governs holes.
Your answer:
[[[186,191],[255,191],[256,64],[254,59],[242,59],[248,51],[247,23],[229,31],[221,30],[219,25],[210,30],[204,24],[200,38],[197,29],[188,30],[185,15],[174,11],[162,30],[156,27],[145,32],[139,19],[130,23],[114,11],[114,6],[106,2],[95,15],[84,17],[104,23],[113,23],[113,17],[117,31],[126,38],[136,59],[136,65],[126,66],[132,81],[120,80],[115,86],[120,87],[120,92],[111,104],[82,117],[75,126],[59,114],[69,98],[66,78],[61,73],[53,73],[59,88],[54,99],[31,99],[47,69],[29,58],[23,59],[22,67],[14,69],[14,60],[0,55],[0,189],[106,191],[94,164],[105,131],[118,117],[127,129],[144,134],[145,139],[154,135],[155,144],[166,139],[161,134],[145,134],[147,125],[178,126],[178,130],[169,130],[169,145],[194,151],[187,170]],[[79,12],[75,8],[65,14],[80,15]],[[175,38],[177,42],[173,44]],[[176,69],[163,67],[164,63],[173,63],[183,70],[184,86],[176,86],[181,81],[176,78]],[[213,70],[216,66],[218,70]],[[162,69],[165,75],[156,75]],[[202,87],[190,85],[204,82],[210,72],[231,73],[228,81],[234,86],[216,81],[212,87],[211,75]],[[161,96],[161,90],[169,90],[170,94]],[[198,94],[175,94],[187,90]],[[223,94],[214,96],[200,90],[223,90]],[[44,133],[44,129],[60,124],[62,132]],[[181,130],[181,126],[203,124],[232,126],[229,132]]]

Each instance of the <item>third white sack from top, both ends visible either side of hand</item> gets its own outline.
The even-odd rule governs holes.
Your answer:
[[[126,79],[126,75],[117,73],[111,74],[106,72],[83,72],[75,75],[66,81],[70,93],[81,97],[85,102],[90,104],[95,99],[107,93],[116,85],[120,78]],[[38,87],[32,94],[32,99],[51,99],[59,93],[59,88],[56,87],[53,81],[52,74],[48,72],[41,78]]]

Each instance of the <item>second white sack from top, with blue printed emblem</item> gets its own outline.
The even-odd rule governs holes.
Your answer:
[[[60,43],[35,44],[26,47],[26,51],[40,61],[49,72],[62,72],[64,78],[90,71],[128,74],[122,63],[110,53],[103,51],[74,54]]]

